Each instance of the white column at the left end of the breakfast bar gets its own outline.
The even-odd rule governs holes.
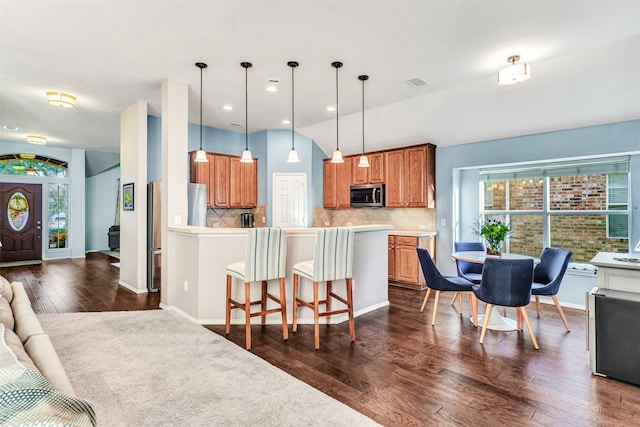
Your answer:
[[[162,82],[162,275],[161,302],[171,295],[167,278],[180,254],[172,251],[167,226],[187,223],[189,85],[177,80]]]

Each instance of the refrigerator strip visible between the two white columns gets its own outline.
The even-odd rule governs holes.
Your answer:
[[[160,182],[147,184],[147,289],[160,290],[162,268],[162,191]]]

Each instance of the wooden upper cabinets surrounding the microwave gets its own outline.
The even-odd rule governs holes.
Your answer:
[[[435,145],[423,144],[367,153],[368,168],[358,167],[360,156],[345,157],[345,163],[326,159],[324,207],[348,208],[351,185],[385,184],[387,208],[435,208],[435,150]]]

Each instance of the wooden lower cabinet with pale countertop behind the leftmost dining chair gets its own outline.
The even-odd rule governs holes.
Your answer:
[[[427,287],[418,261],[416,246],[429,250],[435,255],[434,236],[403,236],[389,234],[389,284],[411,289]]]

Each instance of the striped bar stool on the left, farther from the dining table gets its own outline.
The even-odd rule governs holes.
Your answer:
[[[247,232],[245,261],[229,264],[227,272],[227,310],[225,334],[231,327],[231,310],[239,308],[245,313],[246,348],[251,349],[251,318],[260,316],[262,324],[267,314],[281,313],[282,338],[289,338],[287,329],[287,298],[285,294],[285,262],[287,258],[287,232],[280,228],[255,228]],[[244,302],[231,297],[233,277],[244,282]],[[279,297],[267,292],[269,280],[278,279]],[[262,282],[261,299],[251,301],[251,283]],[[267,309],[267,299],[275,301],[278,307]],[[251,312],[251,306],[260,304],[260,311]]]

